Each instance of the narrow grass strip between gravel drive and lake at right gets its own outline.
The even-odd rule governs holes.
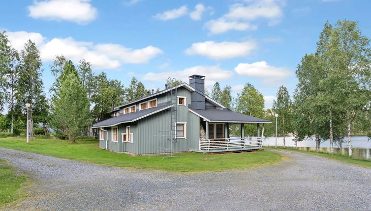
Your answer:
[[[264,147],[264,148],[275,149],[274,147]],[[295,151],[295,152],[301,152],[301,153],[306,153],[306,154],[310,154],[310,155],[321,156],[321,157],[324,157],[324,158],[339,160],[341,162],[347,162],[347,163],[352,163],[352,164],[355,164],[355,165],[371,168],[371,160],[362,159],[362,158],[354,158],[354,157],[351,157],[351,156],[348,156],[348,155],[342,155],[340,153],[335,153],[335,154],[330,154],[330,153],[326,153],[326,152],[317,153],[315,151],[304,151],[304,150],[289,149],[289,148],[284,148],[284,147],[277,147],[277,149]]]

